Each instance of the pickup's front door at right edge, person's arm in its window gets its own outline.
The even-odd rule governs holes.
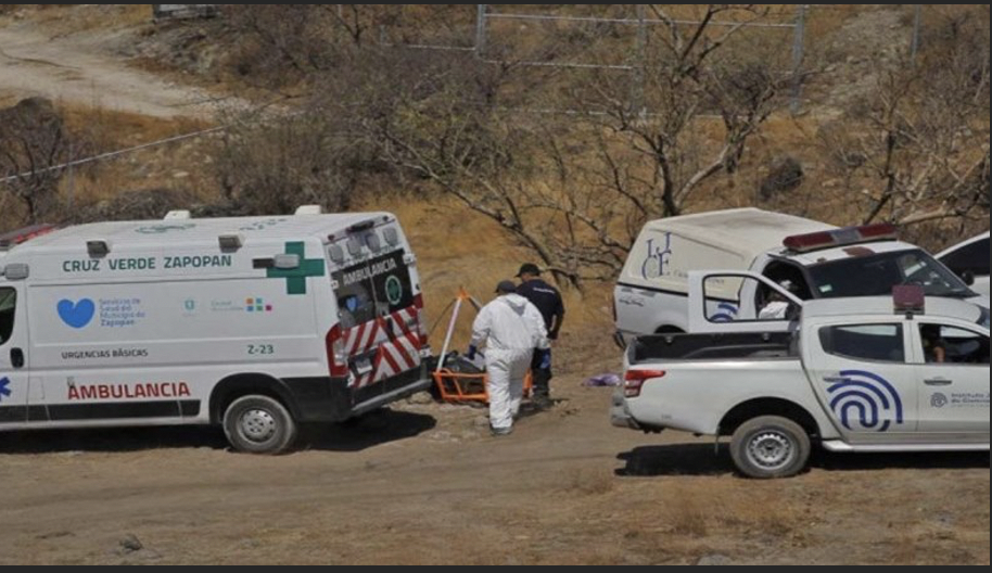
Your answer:
[[[920,318],[912,329],[919,431],[989,442],[989,333]]]

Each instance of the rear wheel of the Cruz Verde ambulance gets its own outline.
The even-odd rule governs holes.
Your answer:
[[[296,432],[285,406],[268,396],[242,396],[224,412],[224,433],[238,451],[281,454],[296,441]]]

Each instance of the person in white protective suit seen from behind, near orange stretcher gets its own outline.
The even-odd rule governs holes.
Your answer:
[[[479,311],[472,324],[472,343],[468,358],[486,345],[488,374],[489,426],[493,435],[513,430],[513,418],[523,399],[523,379],[531,368],[534,349],[547,349],[548,331],[537,307],[517,294],[513,281],[496,286],[497,297]]]

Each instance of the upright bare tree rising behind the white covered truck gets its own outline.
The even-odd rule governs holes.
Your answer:
[[[650,10],[664,24],[647,38],[638,62],[639,105],[627,97],[639,86],[607,75],[589,84],[592,96],[584,101],[601,109],[603,128],[626,138],[635,152],[633,160],[607,158],[609,165],[636,163],[626,167],[629,177],[616,178],[623,188],[615,191],[641,198],[635,207],[657,217],[682,214],[702,183],[737,170],[748,139],[778,107],[778,92],[791,79],[775,69],[767,52],[728,49],[747,24],[765,16],[764,10],[711,4],[692,24],[676,21],[663,5]],[[717,29],[717,18],[737,24]],[[702,132],[708,136],[701,138]],[[612,153],[611,148],[603,152]]]

